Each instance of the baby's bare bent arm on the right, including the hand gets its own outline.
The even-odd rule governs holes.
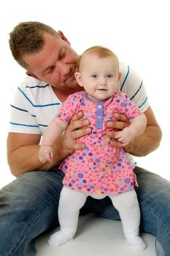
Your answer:
[[[115,136],[115,139],[123,143],[124,146],[128,145],[128,143],[141,135],[147,127],[147,118],[143,113],[129,121],[130,125],[125,127],[122,131],[117,132],[117,135]]]

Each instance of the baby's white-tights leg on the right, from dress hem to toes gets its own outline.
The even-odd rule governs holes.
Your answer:
[[[117,211],[119,211],[125,240],[128,242],[130,249],[134,252],[144,251],[146,244],[139,237],[140,209],[136,192],[133,189],[109,197]]]

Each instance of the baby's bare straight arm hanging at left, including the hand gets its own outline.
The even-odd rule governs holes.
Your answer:
[[[45,162],[51,162],[53,160],[53,144],[55,143],[55,140],[60,137],[67,126],[68,124],[64,123],[58,118],[53,118],[45,130],[45,134],[42,138],[42,143],[39,149],[40,162],[45,164]]]

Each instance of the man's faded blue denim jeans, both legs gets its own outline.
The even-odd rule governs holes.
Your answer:
[[[141,230],[156,237],[157,256],[170,255],[170,182],[136,167],[141,208]],[[58,225],[58,199],[63,173],[57,168],[33,171],[0,190],[0,255],[36,255],[35,239]],[[109,197],[88,197],[81,214],[96,213],[107,219],[120,219]]]

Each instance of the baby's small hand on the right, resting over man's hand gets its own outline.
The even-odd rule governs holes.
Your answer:
[[[136,134],[134,129],[131,129],[131,127],[125,127],[122,131],[117,132],[117,135],[115,136],[115,139],[123,143],[123,146],[128,145],[128,143],[133,141],[135,138]]]

